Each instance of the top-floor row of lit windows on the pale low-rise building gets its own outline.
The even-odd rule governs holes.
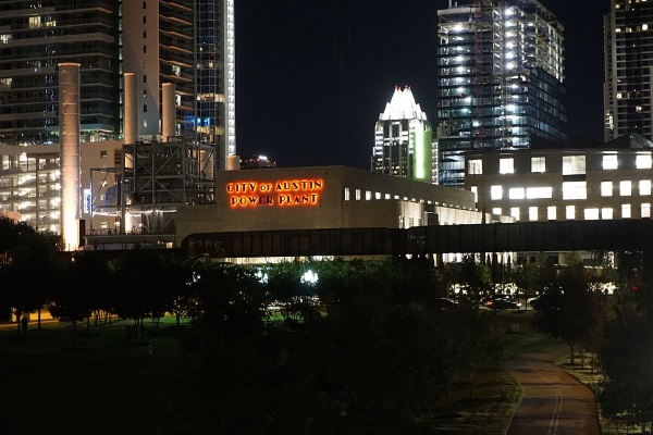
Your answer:
[[[634,165],[638,170],[650,170],[653,167],[653,158],[650,152],[638,153],[634,157]],[[619,169],[619,159],[615,154],[604,154],[602,161],[602,167],[604,171]],[[546,158],[544,157],[532,157],[531,158],[531,173],[544,173],[546,172]],[[467,173],[470,175],[482,175],[483,174],[483,161],[481,159],[472,159],[467,163]],[[498,159],[498,173],[500,174],[514,174],[515,173],[515,159],[501,158]],[[586,156],[563,156],[563,175],[582,175],[586,173]]]

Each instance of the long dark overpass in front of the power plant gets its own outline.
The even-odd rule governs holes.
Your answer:
[[[650,219],[196,233],[181,244],[187,257],[212,258],[618,251],[651,247]]]

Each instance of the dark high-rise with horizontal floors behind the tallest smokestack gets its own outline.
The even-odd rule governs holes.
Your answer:
[[[0,2],[0,144],[58,144],[58,65],[79,63],[82,136],[118,134],[120,2]]]

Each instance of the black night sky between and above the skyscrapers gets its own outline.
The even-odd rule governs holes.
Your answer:
[[[459,0],[469,4],[471,0]],[[602,140],[609,0],[542,0],[565,26],[569,136]],[[434,123],[436,23],[448,0],[239,0],[236,148],[279,167],[369,169],[374,123],[410,86]]]

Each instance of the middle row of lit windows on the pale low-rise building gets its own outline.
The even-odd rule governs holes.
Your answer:
[[[632,182],[621,181],[618,184],[619,196],[632,196]],[[612,197],[614,192],[613,182],[601,182],[601,196]],[[650,179],[640,179],[638,183],[639,195],[650,196],[652,186]],[[478,196],[478,187],[472,186],[471,191]],[[551,199],[553,198],[553,187],[510,187],[508,188],[508,199]],[[504,187],[502,185],[490,186],[490,199],[501,200],[504,198]],[[564,182],[563,199],[588,199],[587,182]]]

